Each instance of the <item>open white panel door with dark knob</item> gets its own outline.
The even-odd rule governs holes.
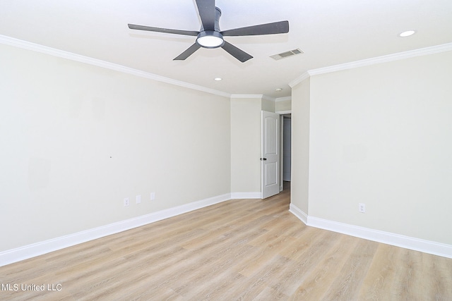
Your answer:
[[[280,192],[280,116],[262,111],[261,123],[261,197],[265,199]]]

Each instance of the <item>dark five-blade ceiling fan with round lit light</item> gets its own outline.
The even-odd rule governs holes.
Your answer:
[[[267,23],[261,25],[254,25],[249,27],[235,28],[232,30],[220,31],[220,8],[215,6],[215,0],[196,0],[198,6],[198,13],[201,18],[201,30],[172,30],[168,28],[149,27],[143,25],[129,24],[129,28],[133,30],[147,30],[153,32],[165,32],[175,35],[191,35],[196,37],[196,42],[177,56],[174,60],[183,61],[184,59],[194,54],[199,48],[218,48],[222,47],[229,54],[234,56],[242,63],[252,59],[253,56],[247,54],[245,51],[235,47],[226,42],[223,37],[237,37],[246,35],[275,35],[279,33],[289,32],[289,21],[280,21],[275,23]]]

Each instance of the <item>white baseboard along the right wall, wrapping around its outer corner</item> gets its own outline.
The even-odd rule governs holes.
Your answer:
[[[434,242],[431,240],[422,240],[420,238],[412,238],[410,236],[374,230],[371,228],[354,226],[347,223],[339,223],[337,221],[330,221],[327,219],[319,219],[314,216],[308,216],[294,204],[290,204],[289,211],[297,216],[297,218],[307,226],[343,233],[357,238],[382,242],[388,245],[395,245],[397,247],[404,247],[405,249],[452,258],[452,245],[446,245],[444,243]]]

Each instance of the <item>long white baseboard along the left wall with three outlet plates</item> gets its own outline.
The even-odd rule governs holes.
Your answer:
[[[133,219],[126,219],[124,221],[118,221],[117,223],[110,223],[105,226],[100,226],[86,231],[61,236],[59,238],[53,238],[42,242],[36,242],[31,245],[18,247],[16,249],[6,250],[0,252],[0,266],[5,266],[6,264],[12,264],[14,262],[20,262],[21,260],[61,250],[66,247],[78,245],[82,242],[88,242],[90,240],[102,238],[107,235],[126,231],[132,228],[146,225],[148,223],[153,223],[155,221],[161,221],[162,219],[167,219],[172,216],[177,216],[189,211],[207,207],[213,204],[218,204],[220,202],[225,202],[229,199],[231,199],[231,195],[229,193],[225,195],[218,195],[217,197],[202,199],[201,201],[191,202],[189,204],[157,211],[151,214],[145,214]]]

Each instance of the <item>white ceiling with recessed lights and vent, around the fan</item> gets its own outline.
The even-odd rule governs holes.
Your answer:
[[[289,20],[290,32],[225,37],[254,56],[246,63],[223,49],[172,61],[196,37],[127,24],[199,30],[194,0],[1,0],[0,35],[228,94],[273,98],[289,96],[288,83],[307,70],[452,42],[451,0],[217,0],[216,6],[221,30]],[[405,30],[417,33],[398,37]],[[304,54],[269,57],[296,48]]]

